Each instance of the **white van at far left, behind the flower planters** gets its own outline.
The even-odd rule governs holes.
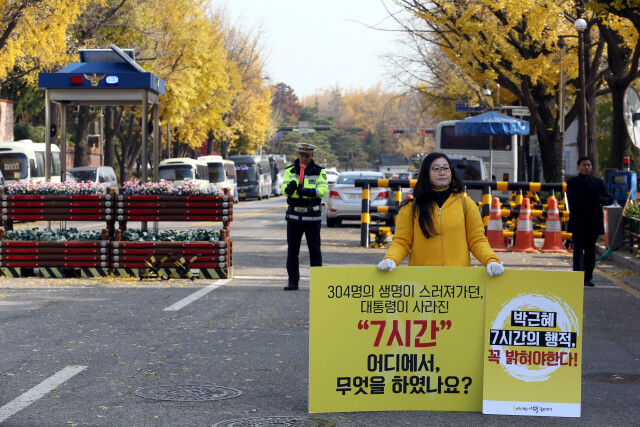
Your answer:
[[[0,171],[7,185],[15,181],[44,181],[44,143],[30,139],[0,142]],[[51,144],[51,182],[60,182],[60,149]]]

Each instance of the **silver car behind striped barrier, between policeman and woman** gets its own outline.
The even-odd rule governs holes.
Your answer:
[[[335,227],[342,220],[360,220],[362,214],[362,188],[355,186],[356,179],[384,179],[381,172],[342,172],[329,190],[326,199],[327,227]],[[378,206],[393,206],[394,196],[390,188],[371,188],[371,219],[393,225],[393,213],[377,213]]]

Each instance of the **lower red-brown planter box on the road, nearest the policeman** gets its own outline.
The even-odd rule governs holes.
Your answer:
[[[232,245],[219,242],[111,242],[111,273],[114,276],[228,279],[233,276]]]

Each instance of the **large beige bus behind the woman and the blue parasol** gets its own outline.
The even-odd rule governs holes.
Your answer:
[[[518,138],[517,135],[493,135],[493,171],[490,168],[489,135],[456,135],[456,122],[450,120],[438,123],[436,127],[436,148],[439,153],[463,157],[480,157],[491,176],[491,181],[518,180]]]

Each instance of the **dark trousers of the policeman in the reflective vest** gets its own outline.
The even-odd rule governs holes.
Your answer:
[[[287,273],[289,274],[289,286],[298,287],[300,270],[298,256],[300,255],[300,243],[302,235],[307,238],[311,267],[322,267],[322,252],[320,252],[320,227],[322,221],[287,222]]]

